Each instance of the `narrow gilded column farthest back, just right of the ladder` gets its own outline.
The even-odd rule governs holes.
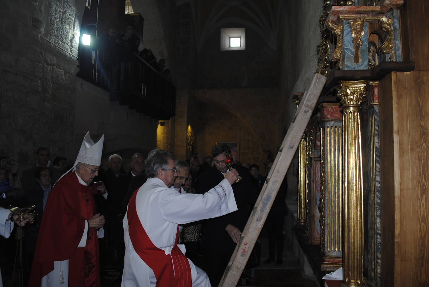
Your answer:
[[[298,224],[307,224],[307,141],[302,136],[299,143]]]

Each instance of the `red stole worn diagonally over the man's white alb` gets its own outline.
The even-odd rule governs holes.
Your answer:
[[[188,259],[177,246],[179,227],[177,227],[175,245],[171,254],[157,248],[149,238],[136,210],[136,195],[134,192],[128,203],[127,219],[128,233],[134,250],[140,258],[154,271],[157,287],[175,286],[192,287],[191,271]]]

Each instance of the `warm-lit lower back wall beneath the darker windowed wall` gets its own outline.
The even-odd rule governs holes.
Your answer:
[[[265,174],[266,151],[278,149],[272,139],[279,121],[278,89],[206,89],[194,95],[190,123],[197,152],[208,156],[216,142],[238,142],[239,160],[258,164]]]

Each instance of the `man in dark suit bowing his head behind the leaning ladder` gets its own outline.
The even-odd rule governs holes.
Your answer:
[[[199,177],[199,193],[214,188],[229,168],[225,164],[225,153],[230,152],[226,144],[213,146],[211,154],[214,166]],[[242,231],[248,220],[248,211],[257,199],[257,190],[251,183],[251,175],[245,167],[234,164],[242,180],[232,185],[238,210],[230,214],[205,221],[205,255],[208,278],[212,286],[218,286]],[[222,193],[222,191],[220,191]]]

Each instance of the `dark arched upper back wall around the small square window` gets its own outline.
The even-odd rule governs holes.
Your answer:
[[[245,27],[230,25],[223,28]],[[278,51],[253,29],[245,27],[245,31],[242,51],[221,51],[219,29],[207,37],[198,55],[199,89],[278,87]]]

